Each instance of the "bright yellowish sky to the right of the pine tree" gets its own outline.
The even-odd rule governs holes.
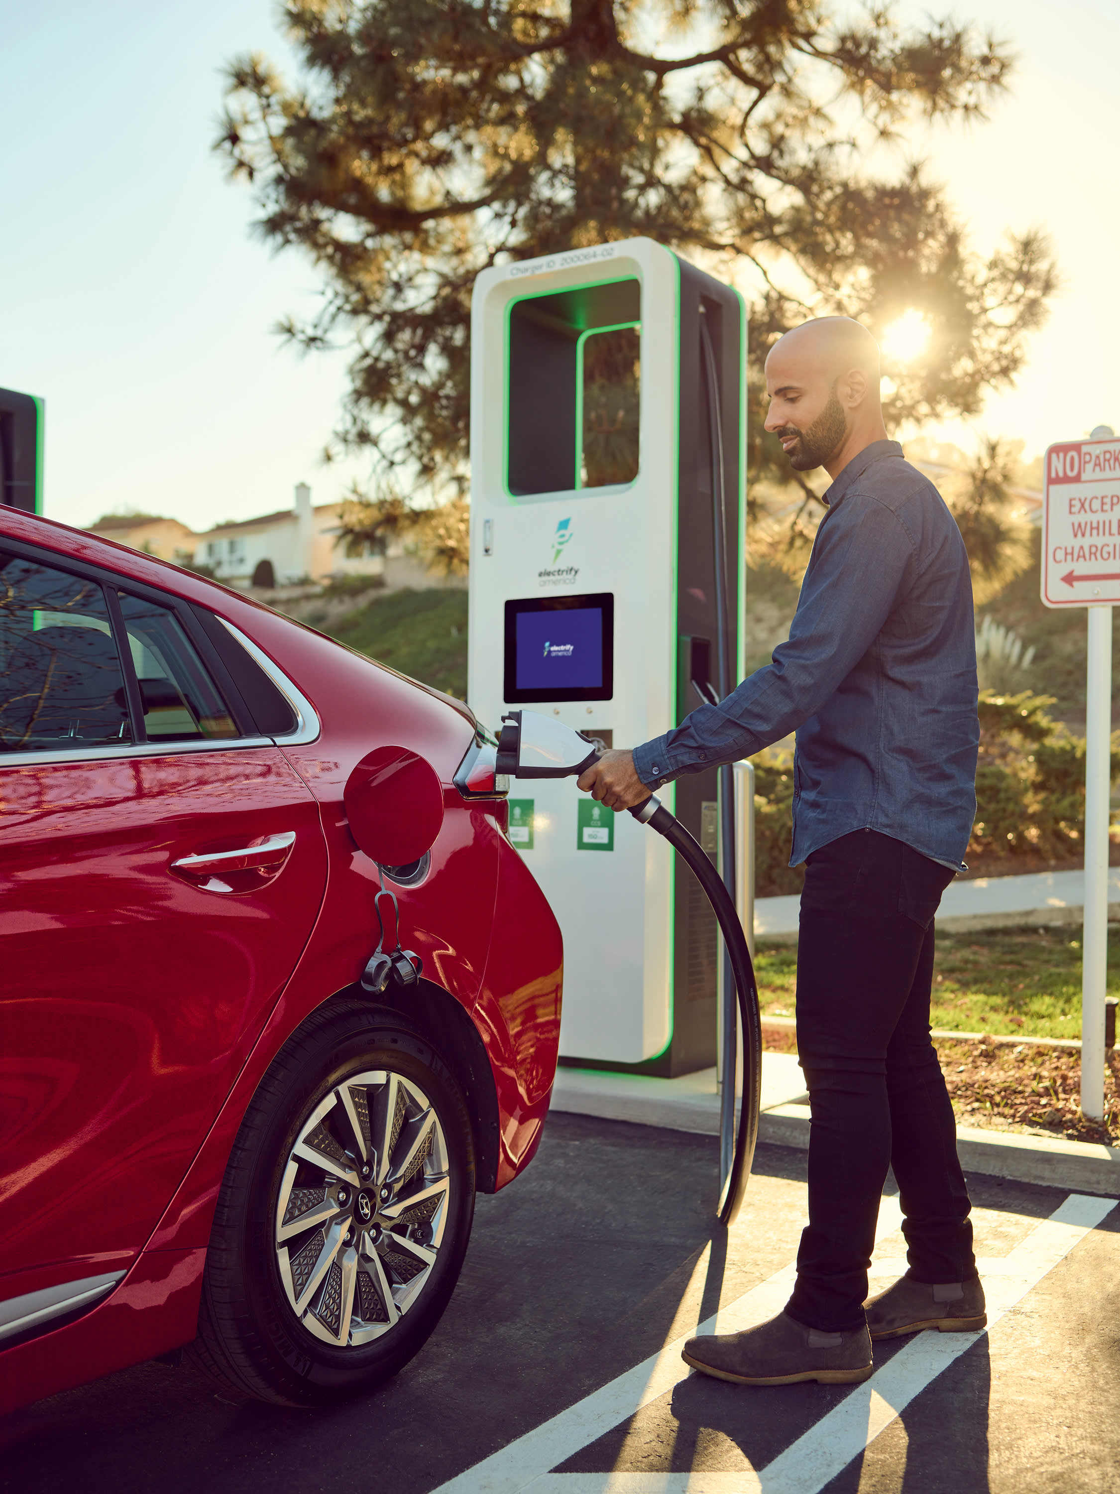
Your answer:
[[[938,0],[906,3],[920,19]],[[990,254],[1012,229],[1042,227],[1062,287],[1048,324],[1030,341],[1015,388],[989,397],[971,429],[926,427],[969,448],[978,432],[1024,442],[1024,456],[1054,441],[1120,430],[1120,296],[1116,179],[1120,4],[1116,0],[956,0],[950,13],[975,19],[1018,52],[1011,96],[986,124],[936,127],[915,137],[971,230]]]

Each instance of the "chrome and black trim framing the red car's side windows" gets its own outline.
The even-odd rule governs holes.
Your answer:
[[[140,708],[140,687],[136,683],[136,671],[131,663],[131,648],[127,645],[127,627],[124,624],[124,616],[121,613],[118,592],[127,592],[133,596],[143,598],[154,602],[157,607],[164,607],[170,611],[178,622],[182,624],[187,636],[190,638],[193,647],[199,651],[202,662],[206,669],[215,677],[215,684],[225,696],[225,704],[230,707],[234,717],[234,725],[237,726],[237,737],[215,737],[206,741],[182,741],[182,743],[149,743],[146,740],[146,731],[143,728],[143,716],[139,719],[139,732],[145,738],[143,741],[130,743],[125,747],[109,747],[91,744],[87,747],[70,747],[70,748],[43,748],[36,751],[21,751],[21,753],[0,753],[0,768],[12,766],[34,766],[37,763],[57,763],[57,762],[96,762],[100,759],[116,760],[122,757],[166,757],[169,754],[176,754],[181,751],[231,751],[245,747],[273,747],[273,746],[302,746],[303,743],[312,743],[318,738],[321,725],[318,713],[312,707],[311,701],[296,689],[296,686],[288,680],[288,677],[269,659],[269,656],[246,638],[245,633],[214,608],[208,608],[218,622],[228,629],[233,638],[257,660],[257,663],[264,669],[278,690],[287,698],[293,711],[296,713],[297,728],[294,732],[285,734],[284,737],[264,735],[252,719],[245,701],[242,699],[240,690],[233,683],[228,669],[223,663],[217,648],[206,636],[205,630],[199,624],[197,617],[194,617],[193,608],[182,598],[173,596],[170,592],[163,592],[160,587],[148,586],[143,581],[133,581],[131,577],[121,575],[119,571],[109,571],[105,566],[93,565],[87,560],[72,559],[64,551],[51,550],[46,545],[27,544],[24,539],[13,539],[9,535],[0,533],[0,550],[9,554],[18,556],[24,560],[33,560],[37,565],[52,566],[58,571],[66,571],[72,575],[82,577],[87,581],[94,581],[102,587],[105,595],[105,604],[109,608],[111,627],[113,630],[113,642],[116,644],[116,651],[121,660],[121,672],[125,681],[125,701],[128,702],[128,714]],[[205,605],[205,604],[200,604]],[[118,626],[121,633],[118,635]],[[125,647],[121,647],[121,635],[124,635]],[[134,698],[133,698],[134,692]],[[133,737],[137,734],[137,723],[130,722]]]

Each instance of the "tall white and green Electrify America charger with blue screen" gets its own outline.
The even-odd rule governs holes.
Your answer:
[[[524,705],[633,747],[738,684],[745,353],[738,291],[651,239],[478,276],[467,695],[481,720]],[[717,769],[659,793],[715,861]],[[564,937],[561,1056],[663,1076],[714,1064],[717,919],[691,871],[561,780],[515,783],[509,825]]]

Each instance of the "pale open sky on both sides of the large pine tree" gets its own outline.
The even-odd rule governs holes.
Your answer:
[[[1012,93],[990,123],[918,128],[930,161],[990,252],[1044,227],[1062,290],[1009,393],[969,426],[1051,441],[1120,429],[1120,206],[1116,0],[902,0],[1012,43]],[[194,529],[285,508],[296,483],[342,496],[358,462],[321,453],[346,387],[342,353],[303,357],[273,333],[314,309],[296,251],[251,235],[251,194],[211,151],[223,64],[245,51],[291,64],[272,0],[0,0],[0,385],[46,400],[45,512],[169,514]]]

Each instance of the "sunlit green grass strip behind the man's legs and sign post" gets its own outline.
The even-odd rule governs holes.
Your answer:
[[[793,1016],[796,947],[760,943],[754,965],[763,1013]],[[1108,994],[1120,995],[1116,929],[1108,934]],[[938,934],[932,1022],[956,1032],[1080,1037],[1080,928]]]

